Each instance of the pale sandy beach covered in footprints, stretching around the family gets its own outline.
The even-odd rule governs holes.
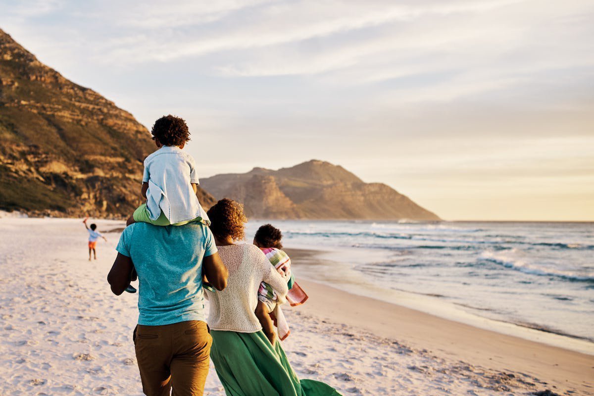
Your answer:
[[[96,221],[106,232],[119,221]],[[0,218],[1,395],[141,395],[131,332],[137,296],[106,274],[119,232],[87,261],[78,219]],[[287,249],[295,271],[311,253]],[[308,302],[286,309],[283,343],[301,378],[345,395],[594,394],[594,357],[298,278]],[[214,368],[206,395],[224,395]]]

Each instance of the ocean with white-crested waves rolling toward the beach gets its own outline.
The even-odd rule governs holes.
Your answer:
[[[247,239],[267,222],[250,220]],[[324,252],[295,262],[298,278],[482,327],[594,343],[594,223],[270,223],[287,248]]]

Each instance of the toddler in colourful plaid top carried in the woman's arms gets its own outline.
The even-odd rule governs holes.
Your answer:
[[[266,255],[270,264],[278,271],[278,273],[287,281],[289,293],[287,293],[287,301],[291,306],[301,305],[308,299],[307,294],[295,283],[295,277],[291,271],[291,259],[281,249],[283,245],[281,239],[282,232],[274,227],[272,224],[264,224],[261,226],[254,236],[254,245],[258,246],[260,250]],[[276,333],[274,332],[274,321],[278,328],[280,340],[285,340],[289,337],[289,325],[285,319],[276,292],[266,282],[260,283],[258,289],[258,305],[256,306],[255,314],[262,325],[264,334],[268,340],[274,344]],[[274,318],[274,321],[273,321]]]

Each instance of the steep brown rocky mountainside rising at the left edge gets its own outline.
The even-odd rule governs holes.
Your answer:
[[[0,209],[123,217],[141,203],[147,129],[0,30]],[[205,207],[213,198],[200,189]]]

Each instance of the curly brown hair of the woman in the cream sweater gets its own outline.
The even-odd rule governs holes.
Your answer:
[[[244,223],[248,218],[244,214],[244,205],[233,199],[223,198],[213,205],[208,212],[210,230],[219,239],[230,236],[233,240],[242,240],[245,236]]]

